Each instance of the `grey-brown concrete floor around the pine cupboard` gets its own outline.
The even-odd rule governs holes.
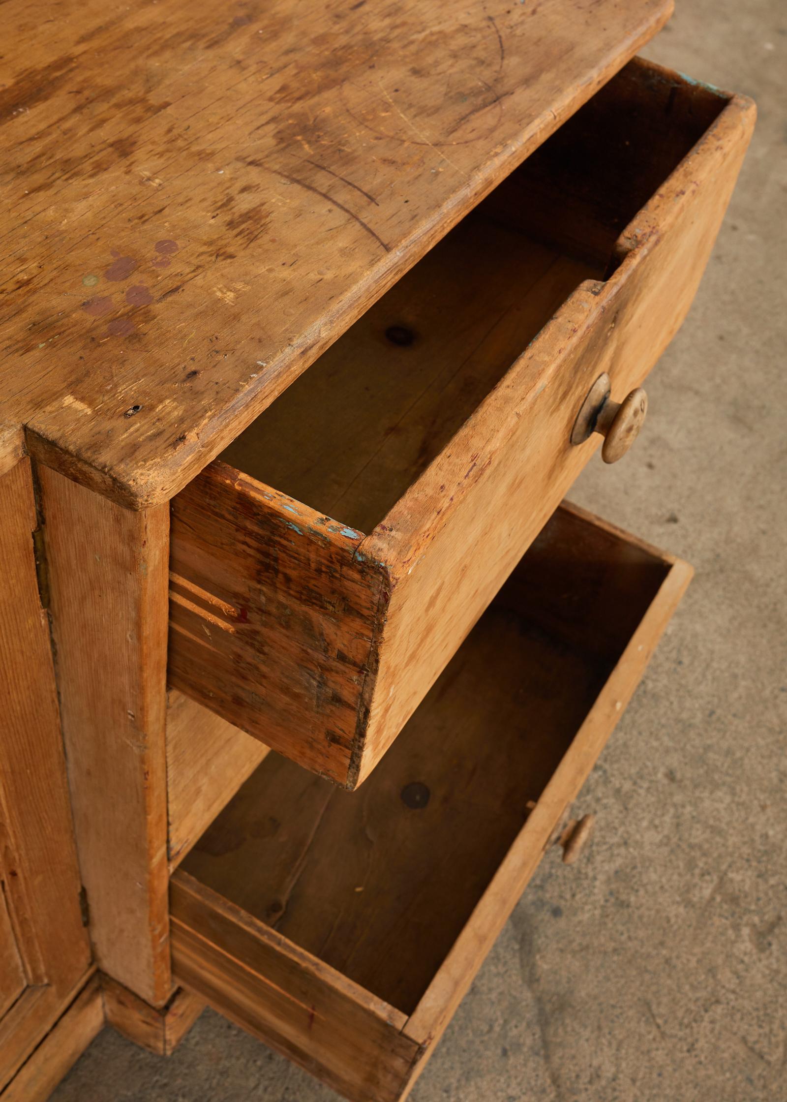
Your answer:
[[[787,9],[679,0],[647,56],[753,96],[754,142],[630,456],[572,498],[697,576],[412,1102],[787,1102]],[[105,1030],[54,1102],[333,1102],[205,1012],[169,1060]]]

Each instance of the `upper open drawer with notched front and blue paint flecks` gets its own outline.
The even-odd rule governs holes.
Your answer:
[[[635,61],[172,504],[171,684],[353,788],[693,296],[752,105]],[[407,196],[402,196],[402,202]]]

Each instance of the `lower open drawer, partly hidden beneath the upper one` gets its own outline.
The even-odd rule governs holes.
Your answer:
[[[403,1098],[690,576],[558,509],[362,789],[269,754],[203,834],[176,982],[347,1098]]]

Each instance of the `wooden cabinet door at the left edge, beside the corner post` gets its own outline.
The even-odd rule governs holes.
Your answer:
[[[0,1090],[90,964],[30,461],[0,477]]]

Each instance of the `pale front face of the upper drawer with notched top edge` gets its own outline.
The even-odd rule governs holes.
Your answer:
[[[602,371],[621,400],[643,382],[697,291],[754,125],[734,98],[618,242],[360,544],[391,596],[360,780],[397,736],[601,441],[569,437]]]

